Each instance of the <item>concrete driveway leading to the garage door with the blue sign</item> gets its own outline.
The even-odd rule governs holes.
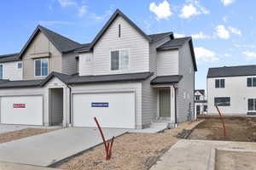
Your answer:
[[[103,129],[106,139],[126,132],[125,129]],[[102,137],[96,128],[69,127],[0,144],[0,161],[48,167],[97,144],[102,144]]]

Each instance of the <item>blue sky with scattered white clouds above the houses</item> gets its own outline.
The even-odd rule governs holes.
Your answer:
[[[210,67],[256,64],[254,0],[6,0],[0,4],[0,54],[20,52],[36,26],[90,42],[119,8],[147,34],[193,37],[195,88]]]

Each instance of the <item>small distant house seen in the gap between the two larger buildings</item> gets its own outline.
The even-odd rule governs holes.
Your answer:
[[[195,90],[195,114],[207,114],[207,98],[204,89]]]

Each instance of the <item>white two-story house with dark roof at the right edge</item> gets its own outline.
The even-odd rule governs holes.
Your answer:
[[[210,68],[207,75],[209,114],[256,115],[256,65]]]

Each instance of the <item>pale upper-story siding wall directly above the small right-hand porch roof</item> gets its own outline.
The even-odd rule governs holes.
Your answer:
[[[157,53],[157,76],[178,75],[178,50],[159,51]]]

